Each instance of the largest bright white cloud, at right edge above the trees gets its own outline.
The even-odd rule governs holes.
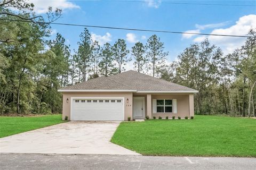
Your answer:
[[[256,28],[256,15],[253,14],[242,16],[235,25],[229,28],[214,29],[211,34],[245,36],[251,28]],[[241,47],[246,40],[243,37],[199,36],[194,41],[200,42],[205,38],[208,38],[212,44],[221,47],[224,54],[232,53],[236,48]]]

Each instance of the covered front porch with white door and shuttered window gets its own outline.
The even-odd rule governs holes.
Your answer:
[[[194,116],[194,94],[133,94],[132,119]]]

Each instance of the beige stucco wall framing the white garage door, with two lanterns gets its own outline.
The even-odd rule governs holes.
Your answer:
[[[62,119],[68,116],[70,120],[71,97],[124,97],[124,118],[132,118],[132,92],[63,92]],[[68,103],[66,102],[68,98]],[[129,103],[126,100],[129,99]]]

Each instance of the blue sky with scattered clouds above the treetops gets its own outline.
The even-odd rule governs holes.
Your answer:
[[[223,33],[246,35],[251,27],[256,28],[255,6],[217,6],[186,5],[181,3],[214,3],[255,5],[255,1],[144,1],[144,2],[109,2],[109,1],[32,1],[38,13],[44,13],[47,6],[63,9],[63,15],[57,22],[109,27],[154,29],[169,31],[188,31],[202,33]],[[130,49],[135,41],[146,43],[153,32],[126,31],[88,28],[93,39],[114,44],[118,38],[126,39]],[[56,32],[67,40],[71,49],[77,48],[82,27],[52,25],[52,36]],[[127,35],[128,34],[128,35]],[[186,36],[171,33],[155,33],[165,43],[169,51],[168,62],[190,44],[199,43],[205,36]],[[146,38],[145,38],[146,37]],[[225,54],[243,44],[244,38],[207,37]]]

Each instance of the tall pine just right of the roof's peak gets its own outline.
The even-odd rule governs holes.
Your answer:
[[[143,71],[145,64],[147,63],[147,59],[145,57],[145,46],[142,43],[138,42],[132,47],[132,55],[134,56],[134,69],[138,72]]]

